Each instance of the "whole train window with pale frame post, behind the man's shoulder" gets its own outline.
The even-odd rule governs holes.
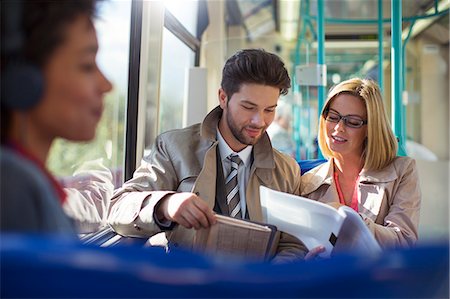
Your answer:
[[[138,123],[144,125],[137,126],[136,160],[130,165],[126,162],[126,177],[131,177],[134,164],[139,165],[142,156],[150,152],[157,134],[183,126],[187,73],[196,65],[200,47],[193,34],[197,1],[148,1],[142,7],[140,85],[145,87],[140,88],[139,101],[146,101],[140,104],[146,112],[138,115]]]

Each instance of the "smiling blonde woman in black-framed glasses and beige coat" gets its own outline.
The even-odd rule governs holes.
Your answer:
[[[415,161],[397,157],[380,89],[358,78],[333,87],[319,146],[328,159],[302,177],[302,195],[359,212],[381,247],[417,241],[421,192]]]

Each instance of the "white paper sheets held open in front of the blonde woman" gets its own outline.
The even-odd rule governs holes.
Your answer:
[[[264,221],[305,243],[325,246],[322,257],[337,252],[378,254],[381,248],[360,215],[342,206],[335,209],[305,197],[260,187]]]

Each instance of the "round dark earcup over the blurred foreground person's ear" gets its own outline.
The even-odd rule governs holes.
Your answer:
[[[13,110],[28,110],[37,105],[44,92],[42,72],[25,63],[7,65],[1,78],[1,101]]]

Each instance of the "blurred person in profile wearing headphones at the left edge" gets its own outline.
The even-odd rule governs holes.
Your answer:
[[[111,89],[93,0],[2,1],[1,230],[75,234],[46,169],[55,138],[88,141]]]

